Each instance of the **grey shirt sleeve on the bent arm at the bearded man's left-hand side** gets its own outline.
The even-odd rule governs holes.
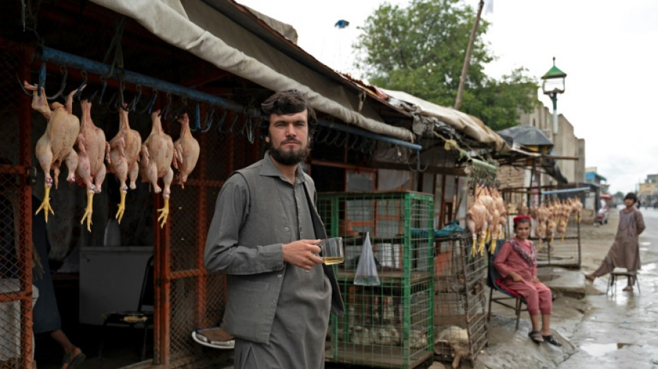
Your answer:
[[[217,195],[208,229],[204,265],[209,272],[247,275],[283,269],[283,244],[238,244],[240,228],[248,215],[247,183],[242,176],[233,175]]]

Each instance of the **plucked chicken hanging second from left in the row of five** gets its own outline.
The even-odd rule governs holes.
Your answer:
[[[91,102],[82,100],[82,120],[80,120],[80,134],[78,135],[78,181],[87,188],[87,208],[82,215],[80,224],[87,219],[87,231],[91,232],[91,214],[93,213],[93,199],[95,193],[100,193],[100,187],[105,180],[105,163],[103,159],[109,153],[109,144],[105,141],[105,132],[94,125],[91,120]]]

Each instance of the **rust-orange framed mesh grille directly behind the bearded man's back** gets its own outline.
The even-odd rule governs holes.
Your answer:
[[[205,348],[190,336],[199,327],[220,323],[226,304],[226,278],[208,275],[204,268],[206,233],[226,178],[260,159],[260,141],[252,144],[244,136],[214,130],[193,135],[202,150],[199,162],[184,189],[172,186],[169,234],[161,232],[158,242],[165,277],[162,286],[169,286],[161,289],[159,363],[170,368],[228,359],[230,351]]]

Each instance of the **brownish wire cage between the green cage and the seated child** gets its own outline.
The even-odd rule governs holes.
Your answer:
[[[436,237],[434,258],[434,352],[442,361],[468,359],[487,343],[486,262],[470,253],[467,233]]]

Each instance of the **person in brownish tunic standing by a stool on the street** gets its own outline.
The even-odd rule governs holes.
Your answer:
[[[644,231],[644,219],[640,210],[635,208],[637,196],[629,192],[624,197],[625,208],[619,210],[619,227],[617,235],[614,237],[614,243],[607,252],[605,259],[592,274],[585,277],[588,280],[594,280],[596,277],[605,276],[616,267],[626,268],[630,272],[636,272],[641,267],[640,249],[638,237]],[[628,286],[624,291],[632,291],[635,278],[628,278]]]

